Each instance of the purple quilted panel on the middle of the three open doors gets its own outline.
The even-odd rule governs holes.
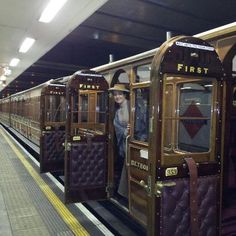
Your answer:
[[[93,187],[105,184],[106,152],[104,142],[72,144],[70,186]]]

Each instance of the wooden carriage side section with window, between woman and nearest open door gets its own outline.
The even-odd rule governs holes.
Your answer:
[[[148,127],[150,62],[133,68],[131,93],[131,134],[127,152],[130,214],[147,227],[148,215]]]

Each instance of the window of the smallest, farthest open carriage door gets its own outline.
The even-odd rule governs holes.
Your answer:
[[[65,97],[46,96],[46,122],[65,121]]]

